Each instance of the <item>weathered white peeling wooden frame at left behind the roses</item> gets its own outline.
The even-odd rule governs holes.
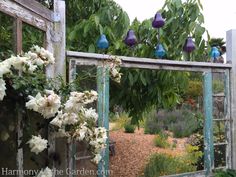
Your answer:
[[[0,1],[0,11],[14,19],[13,38],[14,52],[22,51],[22,23],[29,24],[44,32],[44,46],[54,53],[56,63],[54,67],[47,69],[47,76],[62,75],[65,78],[65,2],[54,0],[54,9],[49,10],[37,1],[30,0],[3,0]],[[22,115],[18,111],[17,116],[17,145],[20,147],[23,136]],[[55,151],[55,139],[49,134],[50,149],[48,153]],[[16,155],[17,170],[23,170],[23,149],[19,148]],[[53,168],[55,168],[53,164]],[[23,175],[18,175],[23,177]]]

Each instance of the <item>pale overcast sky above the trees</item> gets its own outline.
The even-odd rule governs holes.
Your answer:
[[[161,9],[164,0],[115,0],[133,20],[142,21],[154,16]],[[235,0],[201,0],[205,27],[211,37],[226,38],[226,31],[236,29]]]

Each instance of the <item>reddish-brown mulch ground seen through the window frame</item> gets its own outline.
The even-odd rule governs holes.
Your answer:
[[[174,156],[184,153],[186,139],[174,139],[169,137],[172,144],[177,142],[176,148],[158,148],[154,146],[155,135],[144,134],[143,129],[135,133],[124,133],[123,130],[110,131],[110,139],[115,141],[115,156],[110,156],[111,177],[137,177],[142,171],[149,157],[153,153],[167,153]]]

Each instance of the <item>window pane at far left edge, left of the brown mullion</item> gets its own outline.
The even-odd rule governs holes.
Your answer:
[[[0,12],[0,60],[13,53],[13,18]]]

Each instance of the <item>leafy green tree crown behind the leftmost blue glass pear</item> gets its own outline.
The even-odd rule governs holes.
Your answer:
[[[70,50],[99,52],[96,41],[104,33],[110,47],[119,48],[119,41],[129,27],[129,17],[111,0],[66,1],[67,47]]]

